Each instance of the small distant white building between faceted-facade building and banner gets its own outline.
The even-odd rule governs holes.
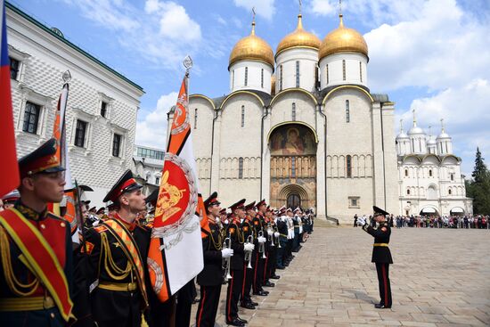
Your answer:
[[[157,188],[161,181],[161,169],[165,152],[147,146],[135,145],[133,153],[133,175],[138,183],[143,185],[143,193],[150,193]]]

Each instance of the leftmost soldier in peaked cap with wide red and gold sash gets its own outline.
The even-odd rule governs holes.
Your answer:
[[[0,212],[0,321],[61,326],[72,318],[69,223],[46,210],[60,202],[64,168],[51,139],[19,160],[20,200]]]

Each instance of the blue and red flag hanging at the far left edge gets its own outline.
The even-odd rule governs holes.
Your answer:
[[[2,25],[0,25],[0,197],[11,192],[20,184],[15,135],[13,133],[12,95],[10,88],[10,60],[7,44],[5,4],[0,0]]]

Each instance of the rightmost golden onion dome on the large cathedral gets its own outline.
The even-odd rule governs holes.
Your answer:
[[[368,56],[368,48],[364,37],[355,29],[347,29],[344,27],[342,14],[339,15],[339,28],[332,30],[322,42],[318,57],[320,60],[331,53],[364,53]]]

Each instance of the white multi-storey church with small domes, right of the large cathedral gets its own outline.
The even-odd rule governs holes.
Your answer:
[[[403,215],[472,214],[472,200],[466,197],[461,158],[453,155],[451,137],[441,133],[434,138],[417,127],[415,113],[413,126],[396,136],[398,155],[399,211]]]

